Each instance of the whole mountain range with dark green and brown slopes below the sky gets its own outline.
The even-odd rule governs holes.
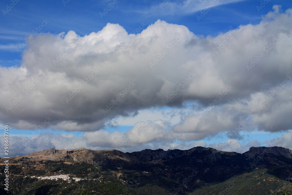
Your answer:
[[[3,173],[4,158],[0,163]],[[80,194],[82,187],[88,194],[272,194],[292,190],[292,151],[277,146],[251,147],[243,154],[200,146],[132,153],[51,148],[11,157],[9,174],[8,194]],[[67,174],[68,180],[47,179]]]

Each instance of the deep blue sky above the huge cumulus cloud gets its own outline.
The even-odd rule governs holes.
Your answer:
[[[217,0],[210,2],[216,4]],[[2,1],[0,60],[3,63],[1,65],[14,66],[20,62],[21,52],[17,53],[13,46],[24,41],[33,29],[41,25],[43,19],[47,19],[49,23],[40,33],[59,34],[73,30],[77,34],[81,34],[80,32],[90,34],[101,30],[107,23],[118,23],[131,33],[139,27],[140,22],[146,24],[145,29],[160,19],[167,23],[184,25],[194,34],[216,36],[220,32],[227,32],[239,25],[259,23],[262,15],[271,11],[274,4],[282,5],[283,10],[291,7],[291,2],[284,0],[271,0],[261,9],[257,8],[261,4],[260,1],[234,1],[220,5],[221,2],[224,1],[218,1],[216,4],[218,6],[211,7],[211,10],[198,21],[197,15],[200,16],[201,11],[191,13],[167,11],[169,4],[182,4],[181,1],[169,1],[168,4],[164,4],[164,1],[117,1],[117,4],[102,18],[100,13],[103,13],[104,8],[112,1],[69,1],[67,3],[17,1],[8,13],[5,11],[11,1]],[[160,7],[160,4],[165,6]],[[210,4],[207,3],[206,6]],[[155,12],[151,11],[152,7],[156,7]],[[4,13],[3,10],[5,10]],[[13,46],[9,47],[9,45]]]

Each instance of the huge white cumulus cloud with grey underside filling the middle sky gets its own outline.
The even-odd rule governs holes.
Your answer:
[[[110,23],[85,36],[41,34],[28,44],[20,68],[1,67],[1,122],[19,129],[86,128],[104,137],[104,146],[117,147],[129,135],[96,132],[109,120],[193,102],[178,124],[150,121],[145,128],[153,136],[141,132],[134,143],[169,141],[182,131],[185,141],[199,140],[242,121],[251,129],[291,129],[292,10],[273,8],[259,24],[216,37],[161,20],[136,35]]]

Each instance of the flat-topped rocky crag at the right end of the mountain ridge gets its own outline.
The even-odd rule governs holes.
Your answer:
[[[244,153],[246,156],[254,157],[256,154],[271,154],[271,155],[283,155],[286,158],[292,158],[292,151],[288,148],[273,146],[273,147],[250,147],[249,151]]]

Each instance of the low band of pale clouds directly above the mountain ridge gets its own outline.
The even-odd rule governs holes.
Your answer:
[[[153,123],[152,123],[153,124]],[[211,147],[221,151],[227,152],[237,152],[244,153],[249,150],[250,147],[258,146],[281,146],[286,148],[292,148],[291,138],[292,132],[287,132],[282,136],[278,136],[275,139],[266,140],[264,143],[261,143],[257,140],[250,140],[247,144],[242,144],[236,139],[227,139],[224,142],[214,142],[212,144],[206,144],[205,141],[191,141],[185,142],[180,141],[177,138],[176,140],[167,140],[166,137],[161,137],[160,141],[152,139],[147,139],[151,135],[147,136],[147,140],[144,140],[143,143],[139,142],[141,138],[138,135],[135,139],[127,142],[127,144],[122,144],[125,139],[121,139],[121,136],[126,134],[121,132],[114,132],[112,134],[103,131],[90,132],[82,135],[73,135],[73,134],[59,134],[59,133],[49,133],[42,132],[41,134],[36,134],[34,136],[22,137],[22,136],[12,136],[9,139],[10,147],[9,154],[11,156],[25,155],[33,151],[41,151],[51,147],[56,149],[77,149],[77,148],[87,148],[93,150],[109,150],[117,149],[123,152],[133,152],[141,151],[143,149],[180,149],[187,150],[193,147],[202,146],[202,147]],[[136,136],[133,134],[133,136]],[[3,138],[3,136],[0,136]],[[0,144],[4,144],[4,139],[0,140]],[[124,147],[119,147],[122,144]]]

